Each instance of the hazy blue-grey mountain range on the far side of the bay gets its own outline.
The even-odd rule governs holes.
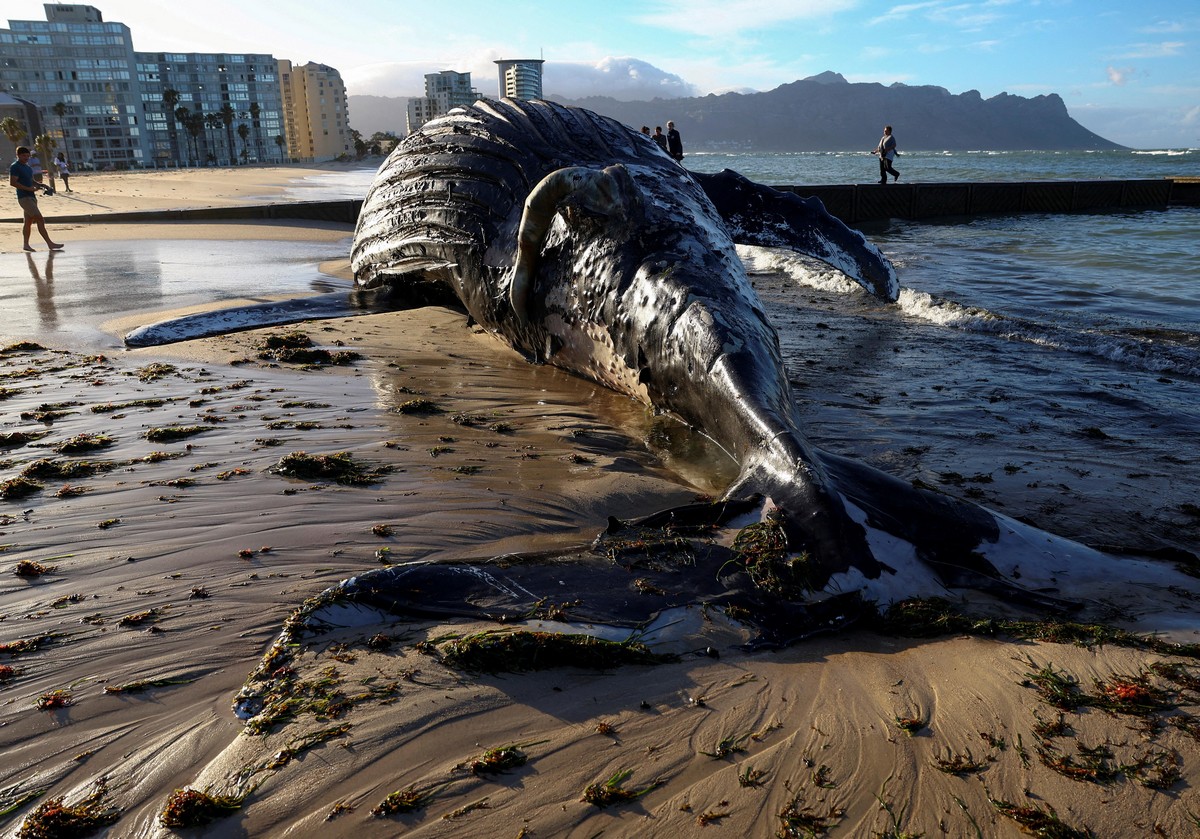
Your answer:
[[[370,128],[355,110],[359,100],[407,102],[377,96],[350,96],[350,125],[364,136],[396,131],[396,125]],[[691,98],[619,102],[608,97],[568,100],[625,125],[674,120],[684,150],[715,151],[851,151],[875,148],[884,125],[895,127],[900,149],[908,150],[1067,150],[1122,149],[1096,134],[1067,113],[1057,94],[1026,98],[978,91],[952,94],[932,85],[850,83],[824,72],[758,94],[722,94]],[[395,106],[394,106],[395,107]],[[403,133],[403,106],[400,131]],[[364,116],[364,120],[366,118]]]

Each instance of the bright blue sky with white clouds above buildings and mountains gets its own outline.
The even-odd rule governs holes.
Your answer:
[[[824,71],[984,98],[1058,94],[1136,149],[1200,148],[1196,0],[92,0],[139,52],[270,53],[336,67],[347,92],[421,96],[496,59],[545,59],[546,95],[622,100],[772,90]],[[18,13],[18,8],[29,10]],[[36,11],[34,11],[36,10]],[[43,19],[0,2],[0,18]],[[350,113],[350,124],[354,115]]]

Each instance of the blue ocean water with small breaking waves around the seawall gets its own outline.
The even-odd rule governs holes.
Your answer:
[[[686,142],[686,137],[684,138]],[[1145,179],[1200,150],[904,151],[907,182]],[[872,182],[863,152],[689,154],[764,184]],[[298,181],[353,198],[373,170]],[[787,253],[742,248],[818,447],[1092,545],[1200,552],[1200,209],[864,226],[896,305]],[[689,474],[678,436],[650,448]],[[714,484],[727,475],[714,469]]]

